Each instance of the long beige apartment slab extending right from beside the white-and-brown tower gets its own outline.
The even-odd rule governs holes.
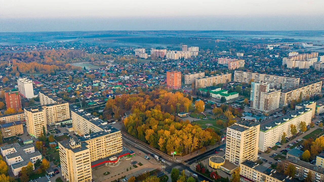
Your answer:
[[[305,99],[307,96],[311,97],[320,94],[321,91],[322,81],[310,85],[297,86],[288,90],[282,90],[280,96],[280,107],[287,106],[292,100],[298,100],[299,98]]]

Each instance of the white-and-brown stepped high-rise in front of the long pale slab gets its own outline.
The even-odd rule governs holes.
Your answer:
[[[263,113],[274,111],[279,108],[280,93],[266,82],[251,82],[250,108]]]

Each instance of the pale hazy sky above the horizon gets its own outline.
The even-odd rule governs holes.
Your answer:
[[[0,0],[0,32],[324,30],[324,0]]]

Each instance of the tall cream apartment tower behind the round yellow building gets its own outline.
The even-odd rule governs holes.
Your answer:
[[[227,127],[225,159],[239,165],[258,159],[260,124],[239,121]]]

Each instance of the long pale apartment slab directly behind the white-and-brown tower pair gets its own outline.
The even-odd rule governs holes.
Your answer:
[[[269,74],[259,74],[243,71],[234,72],[234,82],[249,83],[253,79],[254,82],[267,82],[271,88],[288,90],[299,86],[299,78],[289,78],[284,76],[276,76]]]

